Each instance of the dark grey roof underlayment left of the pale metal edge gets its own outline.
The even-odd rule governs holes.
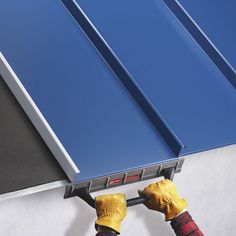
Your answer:
[[[0,76],[0,194],[67,179]]]

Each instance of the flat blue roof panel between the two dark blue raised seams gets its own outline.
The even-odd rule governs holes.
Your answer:
[[[236,142],[234,88],[164,1],[76,2],[186,145],[182,155]]]

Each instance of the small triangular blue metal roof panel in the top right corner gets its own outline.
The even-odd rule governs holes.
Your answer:
[[[236,71],[236,2],[234,0],[179,0]]]

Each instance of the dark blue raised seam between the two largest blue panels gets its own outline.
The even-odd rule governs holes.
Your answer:
[[[176,155],[179,155],[182,148],[184,148],[183,142],[173,132],[169,124],[163,119],[160,112],[144,94],[142,88],[132,78],[132,75],[125,68],[119,58],[115,55],[109,45],[107,45],[106,41],[102,38],[99,32],[97,32],[97,30],[89,22],[88,18],[83,13],[78,4],[71,0],[63,0],[62,2],[65,4],[76,21],[81,25],[88,38],[93,42],[94,46],[103,55],[107,64],[117,75],[117,77],[122,81],[135,101],[139,104],[145,114],[147,114],[154,127],[160,132],[160,134],[174,151],[174,153]]]

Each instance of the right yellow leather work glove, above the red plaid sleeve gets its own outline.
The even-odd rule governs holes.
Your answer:
[[[187,206],[186,200],[177,193],[175,184],[168,179],[150,184],[143,191],[139,190],[139,195],[148,197],[150,200],[145,206],[164,213],[166,221],[174,219]]]

